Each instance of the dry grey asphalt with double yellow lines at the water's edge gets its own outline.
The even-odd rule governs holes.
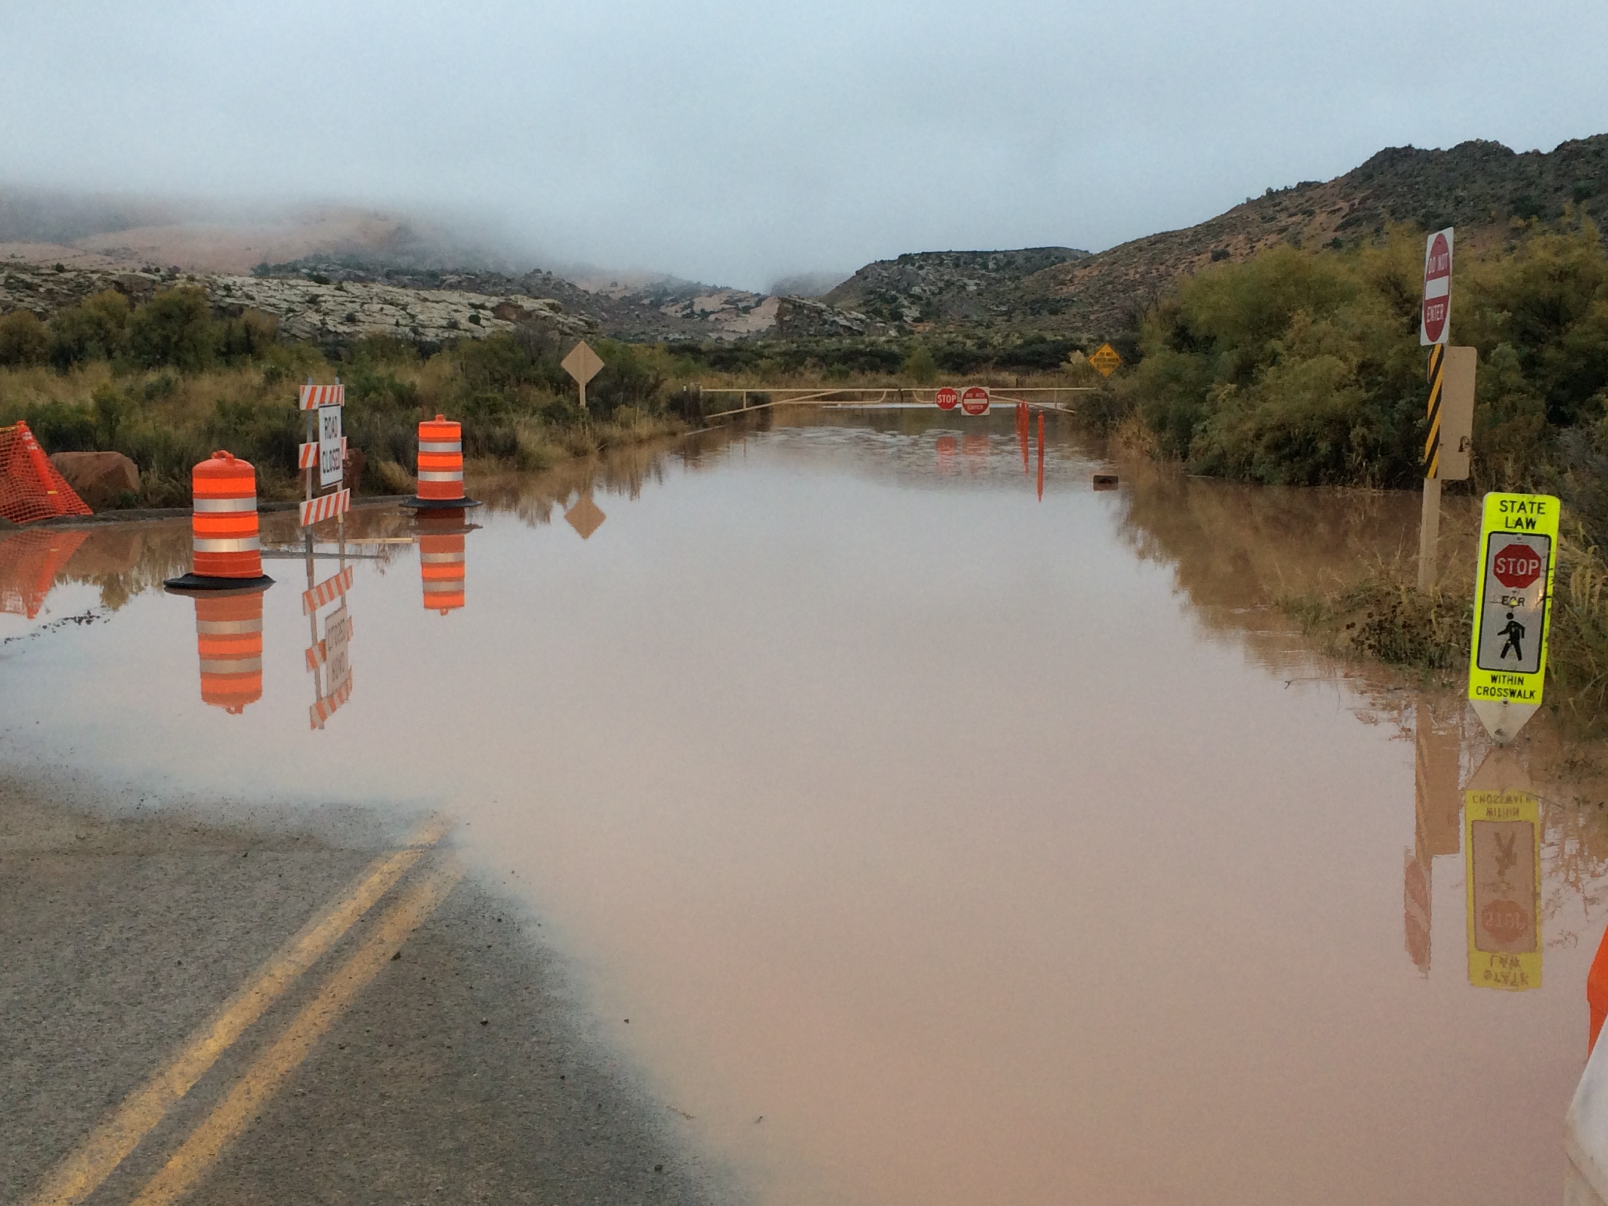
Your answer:
[[[730,1201],[450,825],[0,778],[0,1201]]]

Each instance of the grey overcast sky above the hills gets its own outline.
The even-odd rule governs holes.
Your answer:
[[[1101,249],[1381,146],[1608,132],[1608,3],[0,0],[0,182],[461,214],[764,288]]]

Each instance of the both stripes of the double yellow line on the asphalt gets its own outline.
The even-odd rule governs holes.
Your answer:
[[[74,1206],[113,1174],[167,1111],[188,1093],[219,1056],[260,1018],[296,979],[330,950],[420,859],[439,843],[450,822],[433,818],[408,835],[402,849],[375,859],[333,902],[285,942],[235,995],[224,1002],[190,1042],[145,1085],[117,1106],[26,1201],[26,1206]],[[135,1198],[138,1206],[170,1203],[188,1192],[312,1052],[336,1018],[384,963],[447,897],[461,878],[453,859],[434,868],[379,921],[336,970],[318,995],[240,1077],[228,1097],[180,1145],[161,1172]]]

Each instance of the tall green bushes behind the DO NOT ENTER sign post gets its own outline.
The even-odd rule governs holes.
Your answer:
[[[1132,415],[1198,473],[1409,486],[1423,476],[1420,288],[1421,236],[1407,232],[1209,267],[1142,322],[1113,421]],[[1479,354],[1475,486],[1540,487],[1558,473],[1560,433],[1608,412],[1598,233],[1568,219],[1465,251],[1455,288],[1455,339]]]

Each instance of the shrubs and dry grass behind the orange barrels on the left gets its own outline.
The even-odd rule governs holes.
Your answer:
[[[471,471],[539,470],[683,429],[664,354],[593,343],[605,368],[582,412],[558,363],[568,344],[537,330],[437,351],[394,339],[320,349],[280,339],[265,315],[215,318],[195,286],[137,307],[106,291],[48,323],[0,317],[0,425],[27,421],[48,452],[125,453],[140,468],[138,507],[187,505],[191,465],[224,447],[256,465],[264,498],[294,497],[296,388],[309,376],[346,384],[346,434],[370,494],[412,492],[416,425],[436,413],[463,421]]]

